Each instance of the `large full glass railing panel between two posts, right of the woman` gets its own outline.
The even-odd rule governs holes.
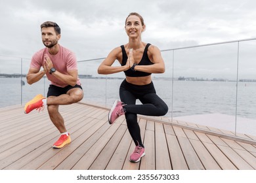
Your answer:
[[[175,50],[173,118],[234,131],[237,47]]]

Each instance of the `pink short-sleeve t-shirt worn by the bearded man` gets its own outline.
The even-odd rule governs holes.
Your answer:
[[[48,54],[51,61],[53,61],[53,65],[56,71],[64,75],[68,75],[68,71],[77,70],[77,61],[75,58],[75,54],[62,46],[60,46],[60,50],[54,56],[48,52],[47,48],[43,48],[36,52],[33,55],[32,61],[30,63],[30,68],[40,69],[41,67],[43,67],[45,54]],[[58,78],[54,77],[53,75],[50,75],[49,73],[46,73],[46,75],[47,78],[51,81],[51,84],[62,88],[68,86],[68,84],[58,80]],[[81,85],[79,78],[77,78],[76,84]]]

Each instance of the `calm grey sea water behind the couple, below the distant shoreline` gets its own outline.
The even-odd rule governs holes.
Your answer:
[[[49,80],[43,78],[35,84],[22,86],[21,78],[0,78],[0,107],[25,105],[35,95],[47,95]],[[84,102],[111,106],[119,99],[119,86],[123,79],[81,79]],[[167,116],[221,113],[256,119],[255,82],[186,81],[153,79],[157,94],[167,103]],[[139,101],[138,101],[139,103]]]

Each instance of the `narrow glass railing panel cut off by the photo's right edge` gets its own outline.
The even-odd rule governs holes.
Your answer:
[[[256,41],[239,44],[236,131],[256,135]]]

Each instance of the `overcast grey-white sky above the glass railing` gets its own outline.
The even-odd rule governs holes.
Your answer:
[[[130,12],[139,12],[144,18],[146,31],[142,41],[160,50],[256,37],[254,0],[0,2],[0,73],[6,71],[5,56],[30,59],[43,48],[40,25],[47,20],[60,26],[59,43],[75,52],[77,60],[104,58],[116,46],[127,43],[124,26]],[[229,47],[218,49],[229,50]],[[236,50],[236,46],[230,50]],[[12,67],[11,62],[9,65]]]

